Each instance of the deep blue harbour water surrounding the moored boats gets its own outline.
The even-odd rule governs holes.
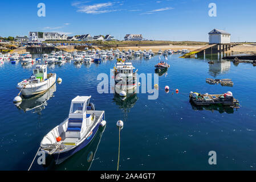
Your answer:
[[[30,77],[34,65],[1,65],[0,169],[27,170],[44,135],[68,116],[72,98],[90,95],[96,110],[105,111],[105,129],[98,131],[90,146],[59,166],[50,159],[46,166],[39,166],[35,160],[31,170],[116,170],[119,119],[124,121],[119,170],[255,170],[256,68],[217,59],[212,65],[208,59],[179,56],[169,56],[170,68],[159,77],[157,100],[148,100],[148,93],[137,93],[125,101],[112,93],[97,93],[97,75],[109,75],[115,60],[90,66],[70,62],[48,67],[48,72],[62,78],[61,84],[17,107],[13,104],[18,94],[15,86]],[[132,63],[139,74],[147,74],[155,73],[158,61],[155,56]],[[231,78],[234,86],[209,85],[205,78]],[[165,93],[166,85],[169,93]],[[189,102],[190,91],[231,91],[241,108],[196,108]],[[216,151],[217,165],[209,165],[209,151]]]

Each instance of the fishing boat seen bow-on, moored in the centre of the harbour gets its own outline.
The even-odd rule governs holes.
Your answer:
[[[115,86],[119,90],[131,90],[137,87],[137,72],[132,63],[117,62],[114,67]]]

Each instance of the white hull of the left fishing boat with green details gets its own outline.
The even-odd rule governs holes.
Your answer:
[[[46,90],[50,89],[52,85],[56,82],[56,74],[54,73],[47,80],[40,82],[38,84],[30,84],[26,85],[25,88],[22,89],[23,86],[17,86],[19,90],[21,90],[21,94],[24,97],[34,96],[39,93],[46,92]]]

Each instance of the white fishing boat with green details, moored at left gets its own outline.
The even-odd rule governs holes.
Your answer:
[[[43,93],[56,82],[56,73],[47,74],[46,65],[37,65],[33,69],[30,78],[19,82],[17,89],[21,90],[22,96],[30,97],[35,94]]]

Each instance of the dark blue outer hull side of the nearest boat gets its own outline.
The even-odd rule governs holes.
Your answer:
[[[101,118],[101,121],[103,120],[103,118]],[[99,126],[100,126],[100,122],[97,123],[97,125],[94,127],[94,129],[92,130],[92,134],[89,135],[89,137],[87,137],[86,139],[83,140],[82,143],[80,143],[78,146],[76,146],[75,148],[72,148],[69,151],[66,152],[56,152],[55,154],[52,154],[55,163],[56,164],[60,164],[62,162],[64,162],[64,160],[70,158],[70,156],[74,155],[76,152],[82,150],[84,147],[86,147],[92,139],[94,139],[95,134],[97,133],[97,130],[99,130]]]

